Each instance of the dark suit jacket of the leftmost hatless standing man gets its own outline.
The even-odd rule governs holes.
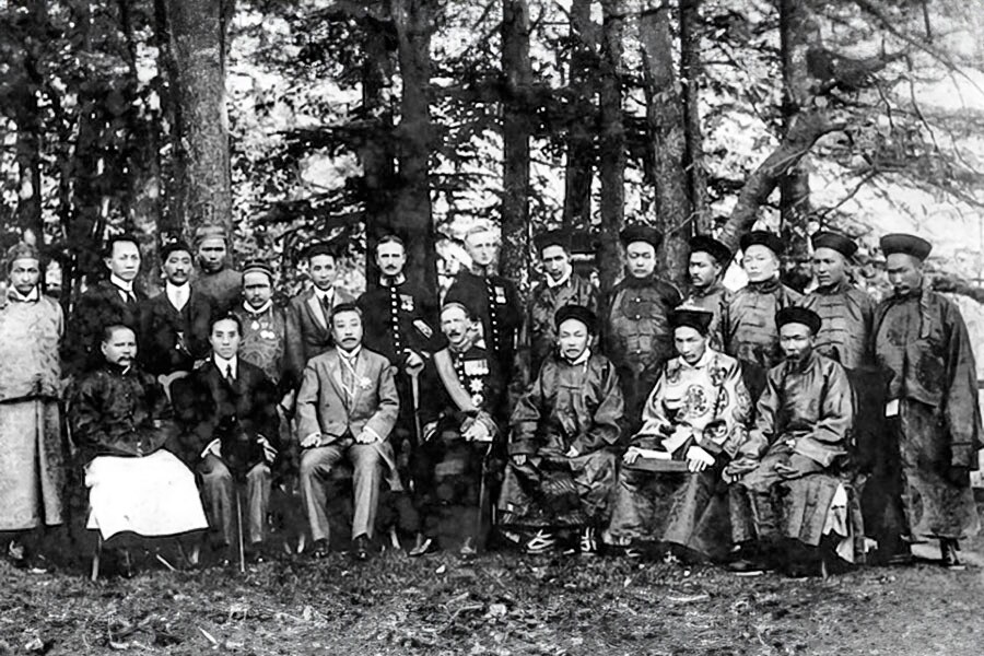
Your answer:
[[[119,288],[108,280],[85,290],[66,321],[68,331],[61,348],[66,374],[79,375],[103,365],[99,342],[103,328],[109,324],[129,326],[140,339],[140,304],[147,301],[147,294],[134,289],[133,295],[136,304],[125,303]],[[137,345],[140,347],[139,341]]]

